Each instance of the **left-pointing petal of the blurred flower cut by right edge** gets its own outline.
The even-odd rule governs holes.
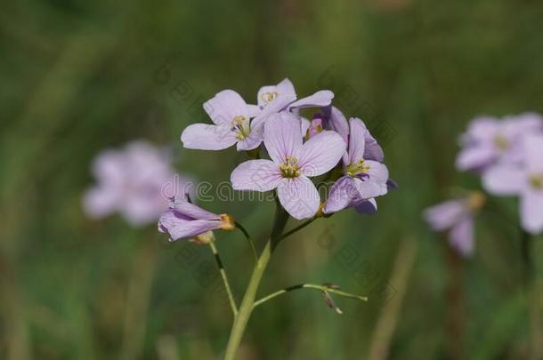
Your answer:
[[[513,165],[494,165],[482,174],[482,187],[494,195],[519,194],[526,184],[526,173]]]

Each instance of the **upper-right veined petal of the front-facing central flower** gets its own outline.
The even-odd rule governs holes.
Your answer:
[[[297,152],[298,165],[305,176],[330,171],[345,152],[345,142],[337,132],[324,131],[307,140]]]

